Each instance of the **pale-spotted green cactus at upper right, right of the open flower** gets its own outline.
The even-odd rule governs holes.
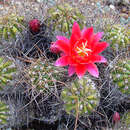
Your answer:
[[[126,30],[125,27],[117,24],[106,29],[105,39],[111,43],[110,45],[114,50],[121,50],[130,44],[129,34],[130,29]]]

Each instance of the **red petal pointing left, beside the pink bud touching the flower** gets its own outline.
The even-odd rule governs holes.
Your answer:
[[[63,41],[63,40],[57,40],[56,44],[58,46],[58,48],[63,51],[65,54],[69,54],[70,52],[70,46],[67,42]]]

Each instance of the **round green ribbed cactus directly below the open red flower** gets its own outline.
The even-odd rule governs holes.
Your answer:
[[[71,87],[66,87],[62,91],[61,95],[65,102],[65,110],[75,116],[77,113],[90,114],[99,101],[99,93],[89,77],[75,80]]]

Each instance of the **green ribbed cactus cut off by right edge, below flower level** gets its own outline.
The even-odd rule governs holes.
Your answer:
[[[122,93],[130,94],[130,59],[120,59],[112,71],[113,81]]]

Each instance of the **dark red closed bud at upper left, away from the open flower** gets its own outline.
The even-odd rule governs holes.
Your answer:
[[[32,32],[39,32],[40,21],[38,19],[33,19],[33,20],[29,21],[29,28]]]

